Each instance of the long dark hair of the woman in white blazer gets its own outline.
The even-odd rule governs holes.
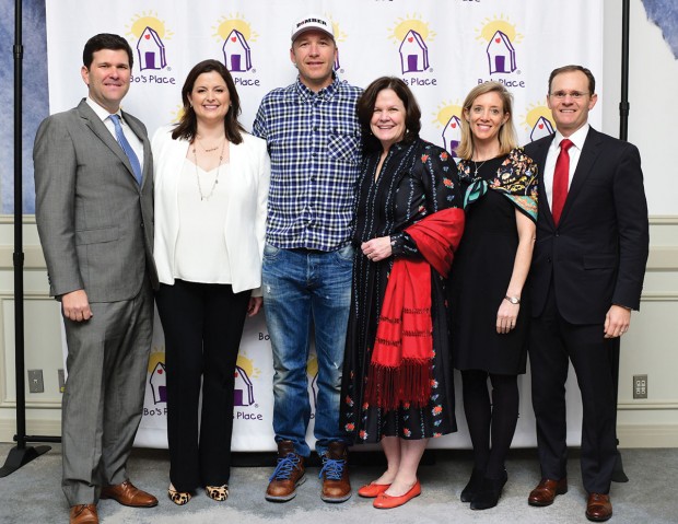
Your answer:
[[[186,77],[186,82],[184,82],[184,86],[182,88],[182,102],[184,103],[184,114],[182,115],[182,119],[177,124],[174,131],[172,131],[172,138],[184,138],[186,140],[192,140],[196,137],[196,132],[198,130],[198,120],[196,118],[196,112],[190,106],[190,102],[188,101],[188,95],[192,92],[194,85],[196,84],[196,80],[198,77],[203,73],[210,73],[212,71],[217,71],[224,82],[226,82],[226,88],[229,90],[229,96],[231,97],[231,108],[224,118],[224,131],[226,133],[226,139],[233,143],[241,143],[243,141],[243,136],[241,131],[245,131],[245,128],[237,120],[237,117],[241,115],[241,98],[237,95],[237,91],[235,90],[235,83],[233,82],[233,77],[225,68],[223,63],[219,60],[202,60],[199,63],[196,63],[194,68],[188,72],[188,77]]]

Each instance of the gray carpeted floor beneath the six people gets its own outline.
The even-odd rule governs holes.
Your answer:
[[[12,446],[0,444],[0,465]],[[573,453],[574,455],[574,453]],[[308,479],[295,499],[277,504],[264,499],[271,467],[245,467],[252,455],[236,455],[241,466],[233,467],[231,496],[214,502],[203,492],[185,506],[174,505],[166,497],[167,453],[164,450],[136,450],[129,464],[131,480],[154,493],[160,504],[153,509],[131,509],[112,500],[98,504],[104,524],[424,524],[424,523],[553,523],[587,522],[584,516],[585,492],[578,459],[570,461],[570,491],[549,508],[531,508],[527,494],[536,485],[539,468],[535,450],[513,450],[506,468],[508,484],[496,508],[471,511],[459,501],[471,469],[467,451],[436,451],[425,456],[420,467],[422,494],[401,508],[375,510],[371,501],[353,497],[342,504],[327,504],[319,499],[318,468],[309,467]],[[273,463],[271,455],[256,456],[255,462]],[[615,524],[678,523],[678,491],[673,478],[678,471],[678,449],[622,450],[626,484],[612,485]],[[353,453],[351,479],[354,490],[381,474],[376,453]],[[0,523],[51,524],[68,522],[68,506],[61,493],[61,453],[56,444],[45,455],[12,475],[0,478]]]

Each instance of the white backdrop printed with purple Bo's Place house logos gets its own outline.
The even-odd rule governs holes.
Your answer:
[[[180,88],[190,68],[214,58],[231,70],[249,129],[259,101],[290,84],[290,33],[295,19],[317,13],[331,20],[339,48],[335,70],[341,80],[365,86],[377,77],[401,78],[422,109],[422,137],[448,150],[459,140],[461,104],[480,82],[504,83],[514,95],[523,143],[553,130],[546,105],[549,73],[582,63],[604,93],[603,0],[119,0],[47,3],[47,60],[50,113],[66,110],[86,95],[80,77],[82,47],[96,33],[117,33],[135,51],[132,85],[124,101],[152,135],[176,121]],[[603,96],[605,100],[605,96]],[[604,102],[603,100],[603,102]],[[600,104],[591,115],[600,127]],[[157,321],[157,318],[156,318]],[[156,322],[138,445],[163,447],[165,435],[164,338]],[[124,372],[124,370],[120,370]],[[233,450],[274,450],[272,359],[264,316],[247,322],[236,368]],[[308,361],[308,394],[315,400],[317,362]],[[573,374],[572,374],[573,375]],[[458,376],[457,376],[458,379]],[[460,405],[459,432],[432,446],[468,447]],[[521,420],[515,446],[535,445],[529,374],[521,377]],[[569,442],[577,443],[581,407],[574,376],[569,383]],[[313,431],[308,431],[313,441]]]

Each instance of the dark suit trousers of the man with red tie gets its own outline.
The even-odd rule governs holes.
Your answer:
[[[565,381],[569,362],[582,395],[582,479],[589,493],[608,493],[615,468],[615,385],[603,324],[574,325],[558,312],[553,289],[541,316],[533,318],[529,337],[533,407],[541,476],[566,476]]]

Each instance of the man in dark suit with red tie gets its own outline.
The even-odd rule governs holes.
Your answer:
[[[547,100],[557,131],[525,148],[543,166],[529,340],[541,481],[528,502],[549,505],[568,491],[564,384],[571,361],[583,406],[586,517],[606,521],[612,515],[609,489],[617,453],[609,353],[611,342],[629,329],[631,310],[640,306],[647,203],[638,149],[588,125],[597,101],[591,71],[556,69]]]

